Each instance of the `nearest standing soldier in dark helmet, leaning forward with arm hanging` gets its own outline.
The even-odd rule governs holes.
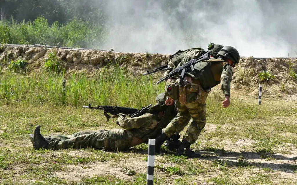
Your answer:
[[[183,85],[180,85],[181,82],[178,82],[178,80],[176,82],[174,78],[166,82],[165,90],[169,98],[165,103],[166,105],[172,105],[176,100],[178,114],[156,138],[156,152],[159,153],[164,141],[174,133],[183,130],[192,118],[193,121],[182,139],[177,155],[200,157],[199,153],[190,150],[190,145],[195,143],[201,130],[205,127],[205,102],[208,93],[212,87],[221,84],[221,89],[225,95],[222,106],[224,108],[228,107],[230,105],[230,83],[233,73],[231,66],[234,67],[239,62],[239,53],[231,46],[223,47],[218,52],[217,57],[217,59],[211,58],[196,63],[194,71],[187,72]],[[178,66],[186,62],[187,60],[183,59]]]

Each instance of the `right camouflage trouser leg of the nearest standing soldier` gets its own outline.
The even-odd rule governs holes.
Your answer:
[[[198,103],[197,101],[187,103],[189,113],[193,119],[187,129],[184,139],[189,143],[195,143],[202,129],[206,124],[206,104]]]

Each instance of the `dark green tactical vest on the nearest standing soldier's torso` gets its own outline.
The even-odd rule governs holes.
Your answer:
[[[194,79],[199,79],[200,85],[203,90],[209,90],[212,87],[220,84],[221,81],[215,81],[214,75],[211,71],[211,65],[214,63],[223,63],[221,59],[211,59],[202,62],[198,62],[194,65],[194,71],[188,71],[187,75]]]

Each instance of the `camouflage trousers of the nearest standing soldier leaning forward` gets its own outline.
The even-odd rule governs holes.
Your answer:
[[[190,94],[191,92],[186,91],[186,96],[189,96]],[[179,100],[176,100],[178,114],[174,119],[172,119],[167,127],[163,129],[165,135],[170,137],[176,132],[181,132],[184,130],[184,127],[188,125],[190,119],[192,118],[192,122],[183,138],[189,143],[195,143],[206,124],[205,101],[207,95],[208,93],[204,93],[203,96],[199,96],[196,99],[196,94],[196,96],[193,96],[185,103],[181,103]]]

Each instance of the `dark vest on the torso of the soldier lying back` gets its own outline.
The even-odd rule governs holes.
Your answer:
[[[168,106],[163,117],[155,128],[133,128],[129,131],[134,137],[142,139],[144,143],[147,143],[149,138],[156,138],[160,135],[162,129],[165,128],[174,117],[176,117],[176,114],[177,112],[175,111],[175,106]]]

